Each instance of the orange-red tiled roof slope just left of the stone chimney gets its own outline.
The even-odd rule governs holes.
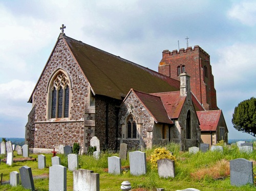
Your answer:
[[[152,94],[161,98],[165,110],[170,118],[179,118],[181,109],[186,99],[186,97],[180,96],[180,91]]]

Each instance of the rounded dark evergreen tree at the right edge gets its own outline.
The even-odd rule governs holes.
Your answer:
[[[238,131],[256,137],[256,98],[244,100],[234,108],[232,124]]]

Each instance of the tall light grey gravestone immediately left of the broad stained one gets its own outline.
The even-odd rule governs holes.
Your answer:
[[[49,167],[49,190],[67,190],[67,167],[58,164]]]

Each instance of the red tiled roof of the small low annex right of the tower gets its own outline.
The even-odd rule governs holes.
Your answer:
[[[221,112],[221,110],[197,111],[201,131],[216,131]]]

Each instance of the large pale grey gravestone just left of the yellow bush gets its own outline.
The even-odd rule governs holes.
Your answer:
[[[134,151],[129,153],[130,173],[139,176],[146,174],[146,153]]]

